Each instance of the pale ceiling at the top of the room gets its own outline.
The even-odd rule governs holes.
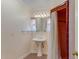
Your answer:
[[[66,0],[22,0],[32,9],[50,9],[62,4]]]

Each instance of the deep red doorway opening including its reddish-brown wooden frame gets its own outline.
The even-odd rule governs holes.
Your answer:
[[[58,56],[61,59],[69,59],[69,5],[66,1],[63,5],[51,10],[57,14]],[[60,59],[60,58],[58,58]]]

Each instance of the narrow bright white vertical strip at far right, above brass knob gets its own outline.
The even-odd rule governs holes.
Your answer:
[[[78,0],[75,0],[75,49],[78,51]]]

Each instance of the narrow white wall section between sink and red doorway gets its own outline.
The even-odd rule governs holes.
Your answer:
[[[57,13],[51,13],[51,35],[48,40],[48,59],[60,59],[58,56]]]

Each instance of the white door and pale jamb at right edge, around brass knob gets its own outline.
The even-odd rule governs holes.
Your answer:
[[[78,59],[72,53],[78,52],[78,0],[69,0],[69,59]]]

